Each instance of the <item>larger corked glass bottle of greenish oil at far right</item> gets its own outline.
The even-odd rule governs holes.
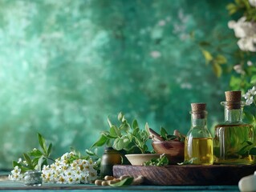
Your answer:
[[[241,91],[226,91],[225,122],[215,126],[214,162],[217,164],[254,164],[254,156],[248,154],[254,146],[254,128],[242,122]]]

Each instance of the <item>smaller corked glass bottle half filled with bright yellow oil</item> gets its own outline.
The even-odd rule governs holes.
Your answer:
[[[185,161],[213,164],[213,138],[206,126],[206,104],[191,103],[191,128],[185,138]]]

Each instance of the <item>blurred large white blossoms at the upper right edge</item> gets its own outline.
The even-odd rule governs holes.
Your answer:
[[[238,40],[240,50],[256,52],[256,23],[246,21],[246,17],[238,19],[238,22],[230,21],[228,23],[230,29],[234,30],[234,34]]]

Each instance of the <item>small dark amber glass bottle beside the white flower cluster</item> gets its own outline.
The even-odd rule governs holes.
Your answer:
[[[112,147],[105,147],[100,163],[100,177],[113,175],[113,166],[122,163],[122,154],[120,151],[114,150]]]

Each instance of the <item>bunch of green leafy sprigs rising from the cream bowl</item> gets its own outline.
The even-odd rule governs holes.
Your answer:
[[[103,131],[94,146],[112,146],[115,150],[125,150],[126,154],[146,154],[148,146],[146,142],[149,138],[148,123],[144,130],[140,130],[136,119],[132,125],[124,118],[124,114],[118,114],[119,126],[113,125],[108,118],[109,130]]]

